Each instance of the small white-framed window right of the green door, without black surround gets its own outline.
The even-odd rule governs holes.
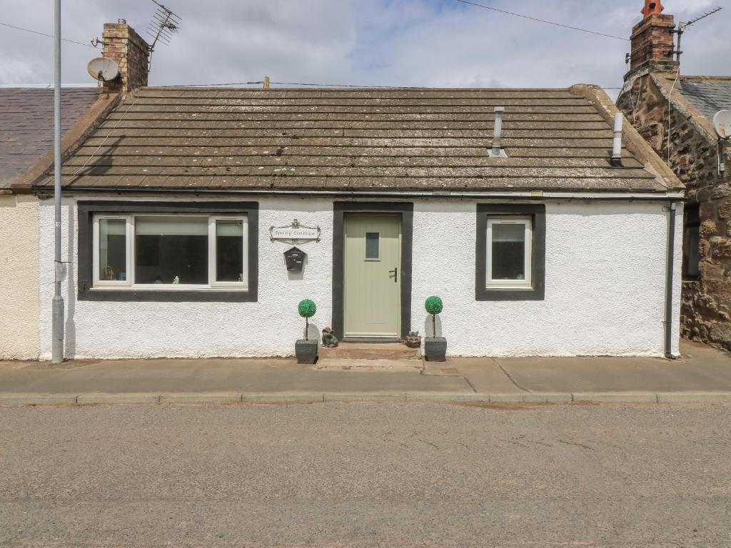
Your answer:
[[[531,218],[488,219],[488,287],[531,286]]]

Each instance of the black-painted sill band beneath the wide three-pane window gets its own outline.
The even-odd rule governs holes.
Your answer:
[[[108,302],[256,302],[250,289],[215,287],[201,289],[93,288],[79,291],[78,300]]]

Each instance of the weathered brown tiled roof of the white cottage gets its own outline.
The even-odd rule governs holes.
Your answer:
[[[508,160],[488,159],[496,106]],[[667,191],[631,151],[610,167],[612,137],[566,88],[150,87],[65,163],[64,186]]]

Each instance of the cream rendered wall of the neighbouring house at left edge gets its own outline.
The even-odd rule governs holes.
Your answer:
[[[0,359],[38,359],[38,345],[38,199],[0,196]]]

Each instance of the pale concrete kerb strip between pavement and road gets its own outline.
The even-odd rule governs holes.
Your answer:
[[[183,392],[177,394],[0,394],[0,406],[110,405],[127,404],[230,404],[230,403],[330,403],[330,402],[421,402],[421,403],[731,403],[731,392],[530,392],[464,394],[439,392],[406,393],[314,393],[222,394]]]

